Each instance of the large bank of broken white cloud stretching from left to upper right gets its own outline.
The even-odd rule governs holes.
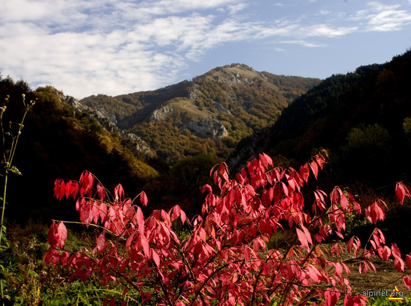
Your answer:
[[[378,2],[348,17],[328,7],[315,18],[302,11],[272,20],[253,17],[253,5],[248,0],[3,0],[0,71],[78,98],[117,95],[180,81],[190,62],[229,42],[281,39],[324,47],[323,40],[315,40],[411,23],[403,6]]]

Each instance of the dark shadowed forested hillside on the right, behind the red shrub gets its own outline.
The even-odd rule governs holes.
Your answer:
[[[411,179],[410,82],[411,51],[385,64],[333,75],[297,98],[272,127],[241,140],[228,163],[238,169],[266,152],[277,166],[298,167],[326,149],[328,165],[318,188],[345,186],[360,201],[392,194],[395,182],[409,184]],[[406,247],[410,206],[389,207],[383,225],[387,237],[404,238]],[[360,224],[356,219],[353,226]]]

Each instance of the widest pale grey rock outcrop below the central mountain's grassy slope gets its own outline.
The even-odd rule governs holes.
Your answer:
[[[189,130],[192,134],[201,138],[221,138],[228,136],[228,132],[221,122],[214,120],[208,121],[201,119],[200,121],[190,120],[180,127],[181,132]]]

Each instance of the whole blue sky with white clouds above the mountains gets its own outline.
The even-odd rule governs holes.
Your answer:
[[[231,63],[325,79],[411,47],[411,0],[1,1],[3,78],[78,99]]]

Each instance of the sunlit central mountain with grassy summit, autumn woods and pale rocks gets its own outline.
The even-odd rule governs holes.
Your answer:
[[[173,165],[200,153],[225,160],[241,138],[273,124],[294,98],[319,83],[231,64],[156,91],[80,102],[146,141]]]

